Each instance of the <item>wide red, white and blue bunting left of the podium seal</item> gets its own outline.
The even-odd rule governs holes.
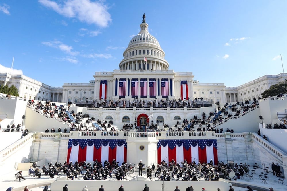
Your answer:
[[[127,161],[127,143],[124,139],[69,139],[67,161],[95,161],[122,164]]]

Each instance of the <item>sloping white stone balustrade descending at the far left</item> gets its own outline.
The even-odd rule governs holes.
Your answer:
[[[11,144],[10,146],[6,147],[0,152],[1,159],[0,161],[4,161],[7,159],[11,154],[17,152],[27,143],[30,143],[34,140],[34,133],[29,133],[28,135],[24,136],[22,139],[19,139],[15,143]]]

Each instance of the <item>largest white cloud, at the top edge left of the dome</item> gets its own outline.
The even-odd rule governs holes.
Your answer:
[[[51,8],[60,15],[68,18],[77,18],[81,22],[107,27],[111,22],[108,6],[104,1],[65,0],[59,3],[51,0],[38,0],[45,7]]]

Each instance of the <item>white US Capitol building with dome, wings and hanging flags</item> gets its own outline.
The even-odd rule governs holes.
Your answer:
[[[203,98],[210,102],[242,102],[261,97],[271,85],[287,79],[286,73],[265,75],[238,87],[224,83],[199,83],[192,72],[175,72],[169,69],[165,52],[158,40],[148,32],[145,16],[140,32],[128,43],[119,69],[113,72],[95,72],[89,83],[64,83],[51,87],[25,75],[0,73],[0,85],[14,85],[19,97],[53,102],[73,103],[92,100],[134,98],[154,100],[168,98],[182,100]]]

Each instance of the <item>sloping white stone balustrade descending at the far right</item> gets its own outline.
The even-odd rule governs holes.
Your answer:
[[[276,155],[276,157],[280,157],[281,158],[282,155],[286,155],[286,153],[284,151],[282,151],[281,149],[279,149],[276,146],[272,145],[271,143],[269,143],[268,141],[266,141],[265,139],[263,139],[261,136],[257,135],[256,133],[253,133],[251,135],[251,138],[252,138],[252,140],[254,142],[256,142],[259,145],[261,145],[261,147],[264,147],[265,149],[269,150],[269,152],[271,152],[274,155]]]

